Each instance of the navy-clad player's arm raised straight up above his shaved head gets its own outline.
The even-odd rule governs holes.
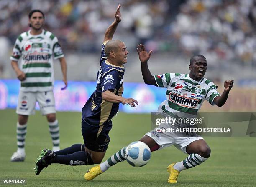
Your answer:
[[[115,11],[115,20],[111,23],[111,25],[107,28],[106,32],[105,32],[105,37],[104,37],[104,41],[107,40],[112,40],[113,35],[115,33],[115,30],[118,26],[118,23],[121,22],[122,18],[121,18],[121,12],[120,12],[120,7],[121,5],[119,4],[117,7],[117,10]]]

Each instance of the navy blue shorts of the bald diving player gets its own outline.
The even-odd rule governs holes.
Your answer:
[[[104,125],[94,126],[84,121],[82,118],[82,135],[84,145],[89,150],[104,152],[108,149],[110,137],[108,135],[112,128],[112,121],[105,122]]]

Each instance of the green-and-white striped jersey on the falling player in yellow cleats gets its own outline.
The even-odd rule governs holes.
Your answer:
[[[165,112],[173,117],[195,117],[204,100],[214,105],[214,98],[220,95],[216,85],[205,78],[195,81],[188,74],[179,73],[154,77],[158,87],[167,88],[167,100],[160,104],[158,112]]]

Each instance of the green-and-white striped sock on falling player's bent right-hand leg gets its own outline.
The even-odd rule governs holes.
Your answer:
[[[200,155],[198,155],[196,153],[192,153],[185,160],[183,160],[181,162],[177,162],[173,166],[173,168],[180,172],[182,170],[186,170],[186,169],[195,167],[197,165],[200,165],[203,162],[205,162],[205,160],[207,160],[207,158],[201,157]]]

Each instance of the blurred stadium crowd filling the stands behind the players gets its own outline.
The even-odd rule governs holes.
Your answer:
[[[173,57],[201,53],[213,67],[256,65],[256,0],[0,0],[0,47],[12,48],[29,29],[28,12],[40,8],[65,54],[98,54],[118,3],[122,22],[115,38],[130,52],[144,43]]]

